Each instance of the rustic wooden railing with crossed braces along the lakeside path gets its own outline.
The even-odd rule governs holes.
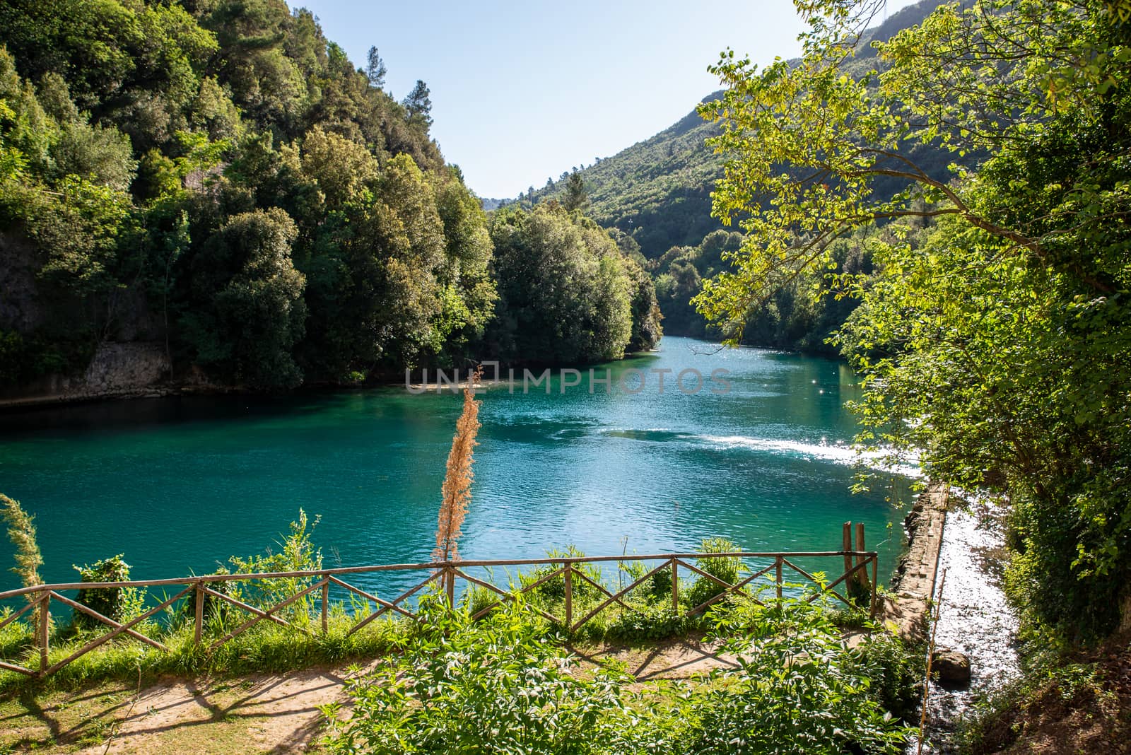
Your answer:
[[[731,583],[718,576],[703,570],[700,565],[705,561],[713,558],[741,558],[741,559],[753,559],[760,562],[770,562],[768,565],[761,567],[753,567],[750,570],[749,575],[741,580],[736,580]],[[819,579],[814,573],[806,571],[798,566],[795,562],[800,559],[824,559],[824,558],[843,558],[844,571],[840,575],[832,580],[831,582],[826,582]],[[603,564],[603,563],[616,563],[623,565],[624,563],[632,562],[659,562],[659,565],[647,571],[642,576],[634,579],[628,587],[618,588],[614,592],[611,588],[606,588],[601,583],[599,580],[593,579],[590,574],[586,573],[585,570],[580,569],[584,564]],[[836,562],[834,562],[836,563]],[[512,588],[510,590],[500,588],[494,584],[490,579],[480,579],[474,576],[468,572],[475,567],[483,567],[485,570],[494,569],[508,569],[508,567],[542,567],[542,570],[547,570],[545,573],[538,573],[537,579],[520,580],[519,587]],[[867,571],[871,567],[871,580],[867,579]],[[25,605],[9,614],[2,621],[0,621],[0,628],[11,624],[21,616],[27,615],[29,611],[35,611],[34,618],[34,643],[38,649],[38,668],[32,669],[25,666],[20,666],[15,662],[9,662],[7,660],[0,659],[0,669],[6,669],[9,671],[16,671],[18,674],[24,674],[27,676],[43,677],[51,675],[68,663],[75,661],[76,659],[85,656],[92,650],[98,648],[100,645],[114,640],[115,637],[126,635],[138,642],[143,642],[153,648],[162,651],[167,651],[169,649],[163,645],[157,640],[146,636],[138,628],[141,628],[144,622],[154,617],[158,613],[169,609],[173,604],[179,600],[192,600],[195,604],[195,611],[192,614],[193,621],[193,639],[198,645],[202,645],[206,641],[205,637],[205,601],[207,599],[219,600],[233,606],[234,608],[244,611],[249,615],[249,618],[240,624],[238,627],[228,631],[223,636],[214,640],[208,645],[208,652],[211,652],[228,642],[233,637],[247,632],[251,627],[256,626],[260,622],[269,621],[283,626],[292,627],[297,632],[310,633],[311,630],[307,626],[299,626],[292,622],[287,622],[280,615],[283,609],[287,608],[292,604],[302,600],[311,593],[318,595],[318,602],[320,602],[320,618],[321,618],[321,631],[325,633],[328,630],[328,619],[330,611],[330,589],[336,588],[338,590],[344,590],[347,593],[352,593],[357,598],[365,601],[365,616],[357,621],[348,630],[348,634],[353,634],[370,623],[377,621],[381,616],[396,614],[405,618],[417,621],[418,616],[414,611],[415,606],[408,602],[409,598],[417,595],[421,590],[428,588],[430,584],[434,584],[435,589],[440,590],[447,596],[449,605],[456,605],[457,598],[457,582],[463,580],[467,591],[474,588],[481,588],[489,590],[498,596],[498,599],[482,608],[480,608],[475,617],[478,618],[484,614],[489,613],[493,608],[500,606],[501,604],[512,600],[516,595],[523,595],[530,592],[545,585],[554,580],[561,579],[563,583],[563,605],[562,605],[562,616],[553,616],[552,614],[536,609],[545,618],[551,622],[561,625],[569,632],[575,632],[587,622],[592,621],[595,616],[601,614],[601,611],[615,605],[621,608],[632,611],[638,611],[639,609],[632,606],[625,600],[628,595],[639,588],[647,580],[651,579],[659,572],[665,570],[671,571],[671,607],[672,613],[675,616],[685,615],[694,616],[700,614],[706,608],[711,606],[719,600],[723,600],[727,596],[742,593],[748,598],[759,601],[758,593],[750,590],[750,585],[761,576],[766,576],[774,585],[774,591],[776,597],[780,598],[783,596],[783,589],[787,584],[793,582],[786,582],[785,573],[789,570],[793,574],[800,576],[804,582],[811,583],[817,587],[817,590],[812,592],[806,599],[812,601],[815,600],[821,595],[832,596],[846,605],[854,605],[845,595],[837,591],[838,587],[844,585],[841,589],[847,593],[846,589],[852,582],[856,582],[857,585],[864,587],[867,590],[867,608],[870,614],[874,616],[877,610],[877,578],[879,570],[878,555],[873,550],[830,550],[830,552],[802,552],[802,553],[748,553],[748,552],[736,552],[736,553],[719,553],[719,554],[702,554],[702,553],[670,553],[659,555],[620,555],[620,556],[577,556],[577,557],[546,557],[546,558],[528,558],[518,561],[458,561],[458,562],[432,562],[425,564],[391,564],[382,566],[355,566],[355,567],[339,567],[339,569],[322,569],[317,571],[295,571],[295,572],[271,572],[271,573],[258,573],[258,574],[208,574],[204,576],[190,576],[182,579],[165,579],[165,580],[136,580],[129,582],[69,582],[61,584],[40,584],[29,588],[21,588],[18,590],[8,590],[6,592],[0,592],[0,602],[6,600],[23,599]],[[717,583],[719,592],[711,597],[710,599],[701,602],[698,606],[691,606],[684,609],[680,605],[680,572],[681,570],[687,570],[690,574],[696,575],[699,579],[706,579]],[[391,600],[386,600],[378,597],[369,590],[364,590],[360,587],[346,582],[343,578],[345,576],[356,576],[362,574],[373,574],[373,573],[388,573],[388,572],[429,572],[428,576],[412,588],[403,590],[396,598]],[[305,584],[299,589],[293,595],[286,597],[285,599],[276,602],[267,608],[256,607],[244,602],[235,597],[225,595],[223,590],[215,589],[217,583],[225,582],[264,582],[266,580],[313,580],[312,583]],[[793,579],[793,578],[791,578]],[[585,611],[581,616],[576,616],[575,614],[575,597],[577,597],[577,590],[575,585],[578,581],[584,582],[588,585],[588,589],[596,590],[601,597],[598,597],[598,604],[596,607],[590,608]],[[164,598],[159,604],[153,606],[145,610],[141,615],[123,623],[116,622],[109,616],[104,616],[90,608],[89,606],[83,605],[76,599],[68,598],[62,595],[63,592],[75,591],[75,590],[98,590],[98,589],[112,589],[112,588],[181,588],[179,592],[173,595],[171,598]],[[768,587],[768,585],[767,585]],[[191,598],[190,598],[191,596]],[[110,628],[89,640],[87,643],[81,645],[78,650],[70,653],[66,658],[51,663],[49,662],[49,642],[50,642],[50,631],[51,631],[51,604],[52,601],[62,604],[75,611],[85,614],[98,623],[105,624]],[[373,610],[369,609],[369,604],[373,604]],[[313,617],[311,617],[313,618]],[[138,627],[138,628],[135,628]],[[209,637],[210,639],[210,637]]]

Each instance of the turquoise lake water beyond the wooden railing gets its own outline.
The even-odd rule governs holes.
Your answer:
[[[465,558],[693,549],[722,536],[751,550],[840,547],[862,521],[890,573],[899,512],[852,495],[841,403],[856,379],[838,362],[685,338],[588,381],[482,394]],[[598,376],[604,375],[604,366]],[[707,382],[685,394],[683,370]],[[729,391],[710,381],[726,370]],[[644,389],[625,371],[645,373]],[[653,370],[672,370],[659,391]],[[417,373],[416,380],[420,380]],[[684,388],[694,388],[685,375]],[[628,389],[628,390],[625,390]],[[284,399],[191,397],[0,415],[0,492],[36,515],[48,581],[122,553],[135,579],[213,571],[261,552],[299,507],[320,514],[327,566],[430,559],[460,398],[403,388]],[[0,564],[10,563],[0,544]],[[829,565],[831,571],[831,564]],[[0,589],[17,587],[0,572]]]

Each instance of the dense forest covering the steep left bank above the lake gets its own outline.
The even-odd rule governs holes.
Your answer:
[[[282,0],[0,7],[0,385],[116,341],[254,389],[653,346],[639,261],[579,211],[490,223],[386,71]]]

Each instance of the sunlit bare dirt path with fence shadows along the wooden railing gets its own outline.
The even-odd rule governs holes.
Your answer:
[[[694,639],[576,648],[582,665],[615,659],[641,682],[685,678],[733,661]],[[317,752],[319,705],[343,696],[346,668],[215,679],[111,683],[0,700],[0,753]]]

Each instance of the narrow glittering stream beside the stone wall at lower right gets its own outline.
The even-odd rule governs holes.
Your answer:
[[[975,696],[1019,675],[1017,617],[1002,591],[1004,526],[998,512],[974,504],[947,514],[939,579],[946,570],[935,646],[966,653],[970,686],[931,684],[924,753],[950,754],[955,724]],[[935,588],[938,596],[938,588]],[[916,752],[915,745],[909,750]]]

